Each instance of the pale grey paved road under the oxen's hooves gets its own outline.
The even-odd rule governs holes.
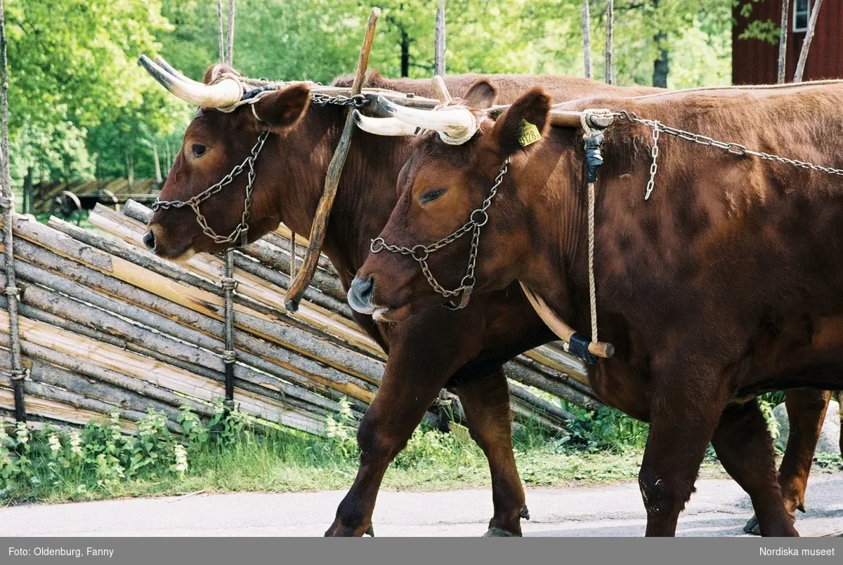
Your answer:
[[[236,493],[0,509],[4,536],[321,536],[345,493]],[[598,488],[531,488],[525,536],[642,536],[645,514],[634,483]],[[843,530],[843,473],[812,477],[803,536]],[[680,536],[738,536],[752,514],[735,482],[704,480],[679,520]],[[480,536],[491,492],[384,491],[378,536]]]

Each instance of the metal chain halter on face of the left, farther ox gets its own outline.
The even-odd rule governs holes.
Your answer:
[[[225,77],[228,77],[226,75]],[[239,108],[243,105],[249,105],[252,109],[252,114],[255,115],[255,119],[258,120],[259,123],[263,123],[263,120],[257,115],[255,112],[255,104],[260,100],[260,97],[264,93],[272,92],[272,89],[268,86],[255,88],[250,90],[247,93],[244,93],[243,98],[240,99],[236,104],[229,106],[228,108],[221,109],[224,112],[233,112],[234,109]],[[336,105],[336,106],[354,106],[355,108],[360,108],[365,104],[368,104],[368,99],[362,94],[356,94],[354,96],[328,96],[323,93],[311,93],[310,94],[310,101],[312,104],[316,104],[318,106],[325,106],[328,104]],[[231,243],[235,244],[238,240],[241,246],[245,246],[249,243],[249,219],[251,216],[251,207],[252,207],[252,192],[255,189],[255,161],[257,161],[258,155],[260,155],[260,150],[263,149],[264,144],[266,143],[266,138],[269,136],[270,131],[264,130],[260,132],[257,141],[255,141],[255,145],[252,147],[249,156],[246,157],[243,163],[240,163],[233,169],[231,172],[228,173],[221,179],[217,184],[213,184],[212,186],[208,187],[205,190],[202,190],[196,196],[193,196],[190,200],[155,200],[151,208],[153,211],[158,210],[169,210],[171,208],[184,208],[185,206],[190,206],[193,210],[193,213],[196,214],[196,221],[199,223],[199,227],[202,228],[202,232],[212,239],[214,243]],[[208,226],[207,218],[201,213],[199,206],[205,200],[208,200],[213,195],[216,195],[220,192],[223,188],[231,184],[235,177],[239,176],[240,173],[243,173],[244,170],[247,170],[248,173],[246,175],[246,195],[244,199],[243,205],[243,216],[240,218],[240,223],[237,227],[234,228],[234,231],[229,233],[228,236],[221,236],[214,232],[210,226]]]

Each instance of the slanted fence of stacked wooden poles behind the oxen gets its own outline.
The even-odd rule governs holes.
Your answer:
[[[177,265],[149,253],[141,240],[148,214],[132,201],[123,214],[99,205],[89,221],[107,234],[56,218],[43,225],[15,216],[30,418],[83,424],[117,409],[131,429],[154,409],[178,429],[184,405],[205,416],[219,409],[225,381],[223,260],[200,253]],[[283,309],[289,236],[282,226],[234,254],[234,400],[256,421],[324,434],[326,417],[340,411],[341,398],[358,418],[366,410],[385,355],[352,321],[325,257],[299,311]],[[299,237],[298,243],[303,251],[306,242]],[[0,416],[8,417],[13,395],[7,300],[0,297]],[[557,431],[570,418],[531,388],[586,408],[599,403],[585,384],[583,365],[556,344],[531,350],[505,369],[519,418],[535,418]],[[448,412],[462,418],[459,402],[446,402]]]

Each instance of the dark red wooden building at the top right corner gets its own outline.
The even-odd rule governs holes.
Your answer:
[[[744,4],[752,3],[749,19],[741,16]],[[808,16],[814,0],[791,0],[787,26],[788,83],[793,80],[799,51],[802,50]],[[733,9],[736,24],[732,30],[732,82],[735,84],[775,84],[779,60],[778,40],[775,44],[762,40],[739,40],[752,20],[781,23],[781,0],[740,0]],[[813,33],[803,80],[843,78],[843,0],[822,0],[817,27]]]

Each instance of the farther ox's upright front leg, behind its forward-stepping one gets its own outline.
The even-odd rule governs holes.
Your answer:
[[[489,460],[494,514],[486,536],[521,536],[521,518],[529,519],[524,488],[513,454],[507,377],[498,369],[454,388],[463,405],[471,437]]]

